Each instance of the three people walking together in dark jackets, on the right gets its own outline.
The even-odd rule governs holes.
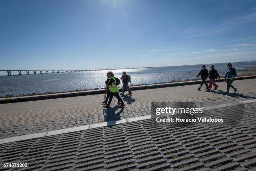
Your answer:
[[[231,63],[228,63],[228,69],[227,69],[227,72],[226,72],[226,75],[225,75],[225,82],[227,83],[227,91],[226,93],[229,93],[229,89],[230,87],[232,89],[234,89],[234,92],[237,91],[237,89],[232,85],[235,77],[237,76],[236,74],[236,69],[233,68],[232,64]],[[211,65],[210,66],[210,71],[208,72],[208,70],[206,69],[206,66],[205,65],[202,65],[202,69],[201,71],[197,74],[197,77],[199,77],[201,75],[201,84],[198,88],[198,90],[200,90],[202,88],[202,85],[205,84],[206,86],[206,89],[208,92],[210,92],[210,89],[212,88],[212,85],[214,87],[214,89],[217,89],[219,86],[215,83],[215,79],[220,79],[220,75],[218,74],[217,70],[214,68],[214,65]],[[207,78],[209,77],[210,79],[210,82],[209,82],[209,86],[206,82]]]

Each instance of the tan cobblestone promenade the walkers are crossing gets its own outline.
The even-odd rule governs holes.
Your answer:
[[[256,98],[256,79],[233,83],[237,93],[225,94],[225,82],[217,83],[219,90],[197,91],[198,85],[134,91],[125,95],[125,108],[103,110],[103,94],[0,104],[0,138],[13,137],[49,130],[120,120],[127,117],[150,115],[151,101],[199,101],[212,105]],[[223,92],[224,91],[224,92]]]

